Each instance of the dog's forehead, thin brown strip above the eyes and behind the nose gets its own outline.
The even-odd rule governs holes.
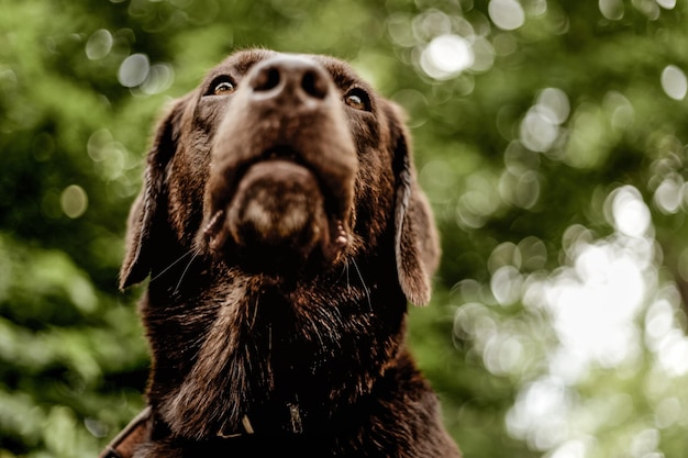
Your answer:
[[[363,86],[368,90],[371,89],[358,75],[356,75],[351,65],[348,65],[344,60],[319,54],[278,53],[269,49],[246,49],[234,53],[226,57],[224,60],[222,60],[220,65],[214,67],[209,72],[209,77],[221,74],[244,76],[257,63],[278,56],[298,57],[307,60],[312,60],[323,66],[332,77],[334,83],[339,87],[349,87],[353,85],[357,85]]]

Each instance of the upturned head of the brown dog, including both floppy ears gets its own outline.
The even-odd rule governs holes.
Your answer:
[[[169,267],[179,249],[308,276],[365,259],[391,237],[399,286],[424,304],[439,258],[400,110],[323,56],[241,52],[176,101],[129,226],[122,288]]]

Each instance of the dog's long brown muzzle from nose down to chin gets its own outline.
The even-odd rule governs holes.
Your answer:
[[[214,142],[203,235],[260,266],[313,253],[331,262],[352,237],[357,167],[339,91],[299,56],[264,60],[244,81]]]

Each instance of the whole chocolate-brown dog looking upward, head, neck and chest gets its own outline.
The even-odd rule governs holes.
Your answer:
[[[439,249],[399,110],[344,63],[245,51],[148,155],[148,410],[110,456],[458,457],[404,347]]]

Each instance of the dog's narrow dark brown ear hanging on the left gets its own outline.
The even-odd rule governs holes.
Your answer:
[[[129,214],[124,262],[120,289],[142,282],[151,271],[156,222],[165,217],[166,168],[177,150],[177,136],[186,99],[176,101],[158,123],[148,152],[144,185]]]

